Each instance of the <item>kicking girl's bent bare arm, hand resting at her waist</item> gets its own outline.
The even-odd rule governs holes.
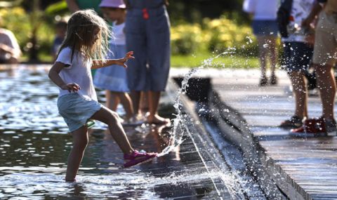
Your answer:
[[[59,86],[62,90],[67,90],[69,92],[72,92],[72,91],[76,92],[80,90],[81,88],[76,83],[65,84],[65,82],[61,79],[59,74],[61,70],[63,69],[63,67],[65,67],[65,64],[63,64],[62,62],[55,62],[53,67],[51,67],[51,69],[49,70],[49,73],[48,73],[49,79],[51,79],[51,81],[53,81],[54,84]]]

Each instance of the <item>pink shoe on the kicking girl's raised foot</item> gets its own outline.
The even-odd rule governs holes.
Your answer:
[[[126,163],[123,166],[124,168],[136,166],[150,161],[155,157],[157,157],[157,153],[138,152],[135,150],[131,154],[124,154],[124,160],[126,160]]]

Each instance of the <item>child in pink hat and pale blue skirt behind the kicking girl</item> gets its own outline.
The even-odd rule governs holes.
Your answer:
[[[114,39],[110,41],[109,58],[121,58],[126,53],[124,25],[126,5],[122,0],[103,0],[100,3],[104,17],[113,23]],[[133,106],[128,95],[126,69],[123,67],[106,67],[95,72],[93,84],[97,88],[105,89],[107,107],[113,111],[121,102],[126,112],[126,124],[134,121]]]

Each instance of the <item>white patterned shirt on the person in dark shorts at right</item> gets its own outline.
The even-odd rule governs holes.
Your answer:
[[[298,31],[291,32],[289,31],[289,36],[287,38],[282,38],[282,41],[291,42],[305,42],[305,35],[300,30],[300,25],[302,21],[308,17],[310,11],[312,10],[312,6],[314,6],[316,0],[293,0],[293,5],[291,6],[291,21],[289,22],[288,27],[291,29],[296,29]],[[302,32],[302,33],[301,33]]]

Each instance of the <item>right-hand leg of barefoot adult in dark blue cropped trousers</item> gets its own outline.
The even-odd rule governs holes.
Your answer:
[[[155,15],[147,20],[147,62],[149,74],[149,115],[147,122],[152,124],[167,124],[168,119],[158,115],[158,105],[161,91],[165,91],[171,65],[170,22],[166,9],[158,8]],[[165,18],[165,19],[164,19]]]

